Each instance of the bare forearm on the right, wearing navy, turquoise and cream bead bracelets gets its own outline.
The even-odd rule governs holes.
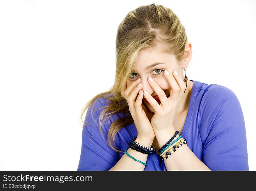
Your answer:
[[[155,131],[157,142],[160,147],[170,140],[175,134],[174,128],[169,128],[161,131]],[[178,138],[180,133],[176,136]],[[175,140],[175,139],[174,139]],[[187,140],[188,142],[190,140]],[[193,140],[191,140],[193,141]],[[175,144],[174,144],[175,145]],[[195,154],[189,149],[186,144],[183,144],[179,149],[164,160],[167,170],[210,170]]]

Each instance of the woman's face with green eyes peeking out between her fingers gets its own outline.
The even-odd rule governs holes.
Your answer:
[[[154,92],[148,82],[148,77],[152,77],[154,81],[157,82],[159,87],[165,92],[166,97],[169,97],[172,94],[170,84],[163,75],[163,72],[168,70],[170,75],[172,75],[173,70],[176,70],[181,77],[182,65],[177,63],[177,60],[173,54],[163,53],[161,51],[161,46],[163,45],[158,44],[154,49],[141,50],[139,52],[138,57],[135,60],[134,68],[127,80],[127,88],[134,80],[141,78],[141,83],[143,85],[142,90],[147,90],[151,96],[156,96],[157,93]],[[150,67],[151,65],[152,67]],[[142,103],[151,112],[155,113],[154,108],[146,101],[145,96],[143,96]],[[158,101],[158,103],[160,104],[161,102]]]

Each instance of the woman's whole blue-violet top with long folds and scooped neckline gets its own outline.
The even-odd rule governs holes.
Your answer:
[[[245,122],[240,103],[232,90],[217,84],[193,81],[189,110],[182,132],[187,146],[211,170],[249,170]],[[100,98],[93,109],[106,105],[106,98]],[[81,156],[77,170],[109,170],[125,153],[119,154],[104,141],[97,125],[99,113],[93,111],[83,126]],[[91,106],[87,110],[90,113]],[[123,113],[115,113],[111,123]],[[109,120],[109,119],[108,119]],[[105,121],[103,132],[107,140],[110,127]],[[87,130],[86,130],[87,129]],[[94,131],[94,133],[93,133]],[[93,135],[93,137],[92,137]],[[120,129],[115,136],[116,146],[125,151],[128,143],[137,136],[134,123]],[[157,154],[147,156],[144,170],[166,170],[164,161]]]

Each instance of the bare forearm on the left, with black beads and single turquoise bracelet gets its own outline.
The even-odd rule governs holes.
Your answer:
[[[136,138],[136,142],[140,143],[145,147],[151,147],[153,140]],[[147,161],[147,156],[148,156],[147,154],[143,154],[131,148],[127,150],[127,153],[130,156],[133,156],[134,158],[136,158],[137,160],[142,161],[143,163],[146,163]],[[110,170],[144,170],[144,168],[145,168],[145,165],[141,164],[138,161],[135,161],[134,159],[130,158],[126,153],[124,153],[124,155],[120,158],[120,160]]]

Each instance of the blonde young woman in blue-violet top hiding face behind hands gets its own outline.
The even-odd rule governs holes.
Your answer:
[[[187,79],[191,48],[172,10],[128,13],[115,83],[82,112],[77,170],[248,170],[240,103],[224,86]]]

